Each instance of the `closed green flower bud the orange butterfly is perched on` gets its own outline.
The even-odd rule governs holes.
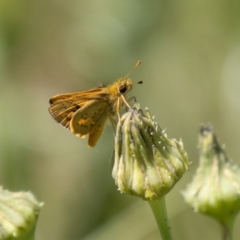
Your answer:
[[[183,143],[170,139],[138,104],[117,125],[112,176],[122,193],[160,199],[188,169]]]

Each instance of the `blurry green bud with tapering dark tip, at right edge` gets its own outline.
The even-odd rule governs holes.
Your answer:
[[[240,210],[240,169],[219,145],[210,125],[199,134],[200,166],[183,195],[195,211],[220,221]]]

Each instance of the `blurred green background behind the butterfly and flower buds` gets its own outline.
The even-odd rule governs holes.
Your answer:
[[[112,127],[90,149],[48,113],[51,96],[111,83],[139,59],[131,78],[144,84],[129,96],[192,161],[166,199],[174,239],[220,238],[180,192],[201,123],[240,163],[240,2],[0,0],[0,183],[45,203],[37,240],[160,239],[147,203],[114,185]]]

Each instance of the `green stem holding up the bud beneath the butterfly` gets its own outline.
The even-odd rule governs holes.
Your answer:
[[[148,202],[156,219],[162,240],[172,240],[173,238],[168,222],[165,197],[163,197],[161,200],[149,200]]]

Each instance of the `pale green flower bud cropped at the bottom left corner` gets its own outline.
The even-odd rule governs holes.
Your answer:
[[[30,192],[9,192],[0,187],[0,239],[33,239],[41,207]]]

